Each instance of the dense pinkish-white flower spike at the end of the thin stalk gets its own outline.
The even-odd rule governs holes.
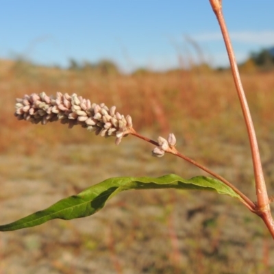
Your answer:
[[[61,123],[69,124],[70,128],[81,125],[100,136],[116,136],[116,145],[132,129],[131,116],[125,117],[115,112],[115,106],[109,109],[104,103],[91,104],[90,100],[78,97],[75,93],[70,96],[57,92],[56,98],[48,97],[45,92],[40,95],[33,93],[25,95],[23,99],[16,99],[15,108],[14,115],[18,120],[42,125],[61,120]]]

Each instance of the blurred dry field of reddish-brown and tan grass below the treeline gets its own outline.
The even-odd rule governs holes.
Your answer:
[[[273,73],[242,73],[265,179],[274,190]],[[77,93],[116,105],[156,140],[220,173],[254,201],[249,144],[229,72],[108,75],[0,61],[0,223],[9,223],[116,176],[206,175],[133,136],[117,147],[81,127],[32,125],[14,117],[25,94]],[[86,219],[0,234],[0,274],[274,273],[274,242],[238,201],[209,192],[123,192]]]

